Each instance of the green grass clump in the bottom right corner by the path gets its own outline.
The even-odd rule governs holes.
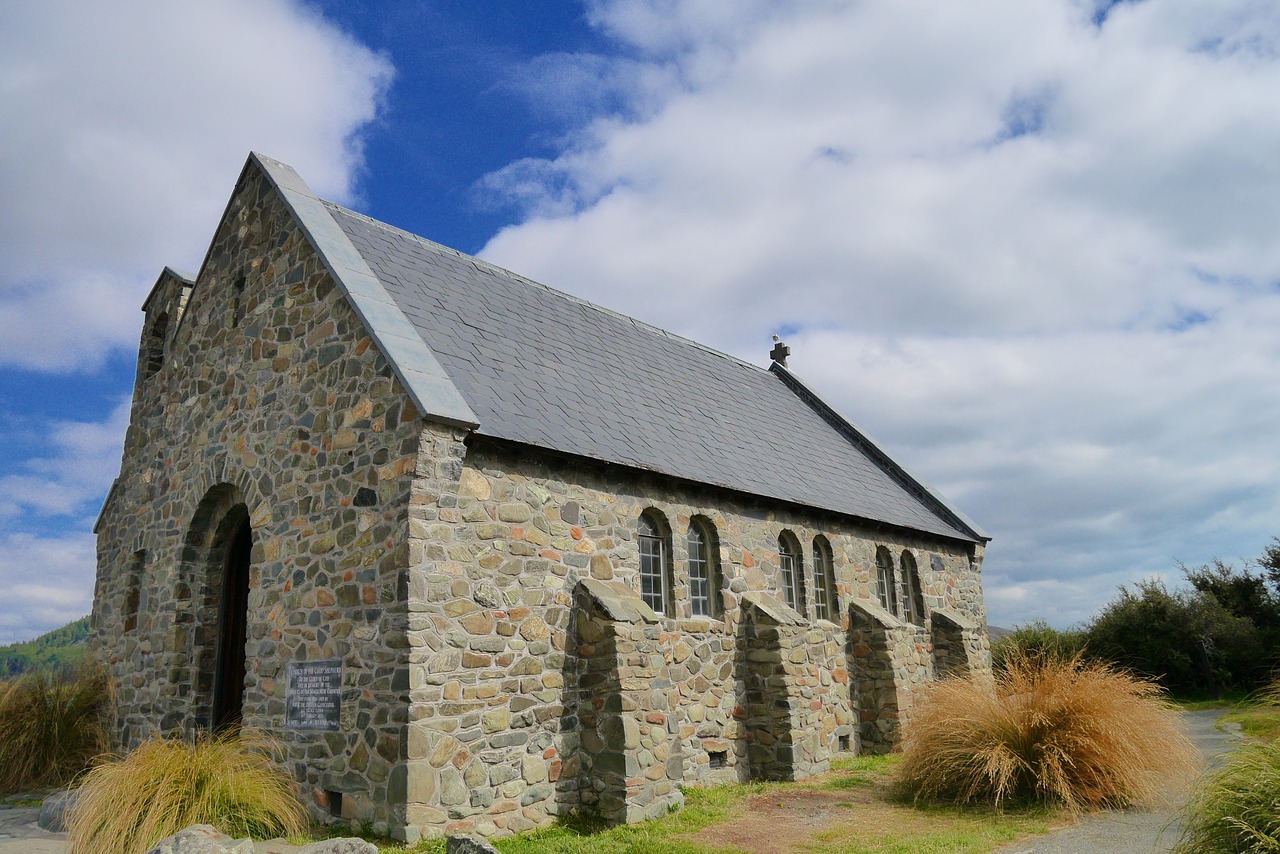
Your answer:
[[[1187,805],[1174,851],[1280,851],[1280,739],[1233,750]]]

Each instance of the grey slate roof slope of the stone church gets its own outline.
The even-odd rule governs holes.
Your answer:
[[[462,393],[481,435],[984,539],[896,463],[877,460],[887,455],[859,443],[856,429],[804,399],[803,385],[797,394],[786,371],[325,207]]]

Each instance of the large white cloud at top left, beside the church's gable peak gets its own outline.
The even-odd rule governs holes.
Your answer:
[[[247,152],[351,198],[390,65],[294,0],[0,5],[0,362],[133,347]]]

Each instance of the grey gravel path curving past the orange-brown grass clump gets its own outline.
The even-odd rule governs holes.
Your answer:
[[[1189,735],[1196,746],[1215,763],[1217,757],[1231,749],[1240,739],[1238,725],[1217,727],[1221,711],[1184,712]],[[1079,825],[1056,831],[1034,840],[1006,845],[998,854],[1152,854],[1169,851],[1178,841],[1181,822],[1179,808],[1185,796],[1167,809],[1158,810],[1106,810],[1084,818]]]

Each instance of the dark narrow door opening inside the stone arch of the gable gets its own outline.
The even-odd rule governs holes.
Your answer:
[[[223,561],[218,606],[218,665],[214,671],[214,730],[238,727],[244,707],[244,643],[248,640],[248,571],[253,529],[244,515],[232,531]]]

